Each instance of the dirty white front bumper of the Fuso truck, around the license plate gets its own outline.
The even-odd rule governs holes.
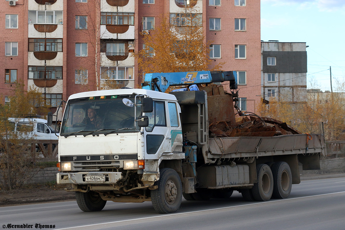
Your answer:
[[[85,176],[105,176],[104,182],[88,182]],[[121,172],[59,172],[56,175],[57,184],[116,184],[122,178]]]

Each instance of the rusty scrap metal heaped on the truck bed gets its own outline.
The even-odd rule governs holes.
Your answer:
[[[222,85],[214,84],[200,90],[207,92],[209,137],[272,137],[301,134],[285,122],[259,117],[249,112],[243,114],[241,121],[236,122],[233,93],[224,91]]]

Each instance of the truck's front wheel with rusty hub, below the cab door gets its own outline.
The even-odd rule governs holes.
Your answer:
[[[159,180],[155,182],[157,189],[151,191],[153,207],[159,213],[176,212],[181,205],[182,183],[174,169],[160,170]]]

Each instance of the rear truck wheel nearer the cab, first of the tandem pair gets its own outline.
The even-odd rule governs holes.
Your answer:
[[[258,164],[256,176],[258,182],[252,188],[253,197],[256,201],[268,201],[273,193],[272,171],[267,164]]]

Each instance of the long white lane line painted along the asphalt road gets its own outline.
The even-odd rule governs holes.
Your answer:
[[[333,194],[338,194],[338,193],[345,193],[345,191],[343,191],[343,192],[326,193],[326,194],[319,194],[319,195],[313,195],[313,196],[307,196],[307,197],[295,197],[295,198],[288,198],[288,199],[282,199],[282,200],[270,200],[270,201],[266,201],[266,202],[256,202],[256,203],[250,203],[250,204],[241,204],[241,205],[236,205],[236,206],[228,206],[228,207],[213,208],[213,209],[204,209],[204,210],[197,210],[197,211],[190,211],[190,212],[161,214],[161,215],[151,216],[151,217],[142,217],[142,218],[136,218],[136,219],[127,219],[127,220],[118,220],[118,221],[111,221],[111,222],[104,222],[104,223],[87,224],[87,225],[68,227],[68,228],[59,228],[59,229],[56,229],[56,230],[73,229],[73,228],[85,228],[85,227],[90,227],[90,226],[97,226],[97,225],[100,225],[100,224],[112,224],[112,223],[120,223],[120,222],[125,222],[125,221],[145,220],[145,219],[151,219],[151,218],[157,218],[157,217],[162,218],[162,217],[168,217],[168,216],[185,215],[185,214],[190,214],[190,213],[214,211],[214,210],[227,209],[227,208],[237,208],[237,207],[243,207],[243,206],[249,206],[249,205],[255,205],[255,204],[266,204],[266,203],[270,203],[270,202],[278,202],[278,201],[286,201],[286,200],[295,200],[295,199],[300,199],[300,198],[309,198],[309,197],[333,195]]]

